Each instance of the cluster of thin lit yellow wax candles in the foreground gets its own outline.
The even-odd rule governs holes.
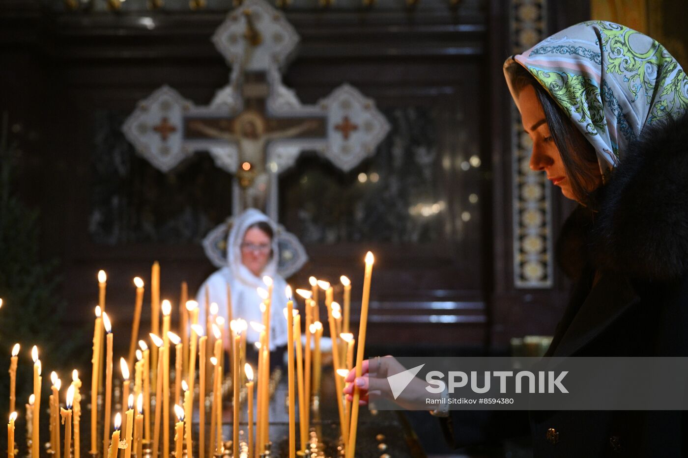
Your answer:
[[[372,265],[374,258],[368,252],[365,257],[365,276],[363,284],[363,301],[361,304],[361,320],[358,332],[358,353],[356,355],[356,376],[361,376],[361,362],[363,361],[364,342],[367,322],[367,308],[369,303],[369,291],[372,276]],[[175,386],[174,386],[174,413],[178,419],[175,424],[175,456],[182,456],[184,438],[186,439],[186,453],[189,458],[193,458],[193,441],[191,440],[191,413],[194,404],[194,382],[196,357],[198,357],[199,367],[199,444],[205,444],[206,426],[206,368],[213,367],[213,388],[211,402],[211,431],[210,448],[207,450],[208,456],[222,453],[222,374],[224,359],[224,338],[223,327],[224,318],[217,315],[217,305],[208,304],[206,294],[206,330],[198,324],[198,304],[195,301],[186,301],[186,287],[182,286],[182,303],[180,307],[180,334],[186,338],[180,338],[170,330],[171,327],[171,303],[167,300],[159,302],[160,299],[160,266],[153,264],[151,270],[151,341],[157,347],[157,351],[151,351],[144,342],[139,340],[140,349],[135,349],[138,327],[140,324],[140,313],[143,299],[143,282],[138,277],[134,279],[136,285],[136,307],[133,316],[131,329],[131,345],[129,348],[129,361],[136,355],[135,376],[133,381],[133,393],[129,380],[129,367],[131,362],[125,358],[120,358],[120,368],[122,371],[122,404],[127,402],[127,409],[118,412],[114,419],[114,433],[110,432],[111,404],[112,404],[112,378],[113,378],[113,338],[114,334],[109,320],[105,313],[105,287],[107,276],[102,270],[98,273],[100,294],[98,307],[96,307],[96,320],[93,338],[93,358],[92,358],[92,391],[91,391],[91,448],[89,455],[98,455],[97,446],[97,425],[98,425],[98,392],[100,391],[100,375],[105,367],[105,412],[103,413],[103,457],[116,458],[118,448],[124,448],[124,458],[130,458],[132,451],[137,457],[141,457],[142,444],[151,443],[151,417],[153,418],[152,452],[153,458],[160,455],[160,435],[162,430],[162,457],[170,456],[169,450],[169,411],[170,401],[170,382],[169,382],[169,363],[170,363],[170,342],[175,347]],[[250,364],[244,364],[246,373],[246,393],[248,408],[248,451],[246,456],[252,454],[257,458],[266,449],[268,444],[268,405],[270,399],[269,380],[270,380],[270,303],[272,298],[272,279],[264,278],[266,289],[259,288],[259,294],[263,302],[259,305],[262,312],[263,323],[250,323],[251,327],[259,332],[259,342],[256,347],[259,350],[258,377],[257,377],[257,402],[256,402],[256,432],[253,438],[253,371]],[[358,388],[354,389],[353,402],[345,402],[343,397],[343,379],[352,369],[354,338],[349,332],[350,323],[350,292],[351,282],[347,277],[342,276],[341,282],[344,286],[343,309],[338,303],[333,301],[334,290],[330,283],[317,281],[314,277],[310,278],[311,290],[297,290],[297,293],[305,298],[305,351],[301,343],[301,318],[297,309],[294,308],[292,291],[287,287],[288,306],[284,309],[288,329],[288,400],[289,400],[289,456],[296,456],[296,385],[299,391],[299,430],[300,430],[300,450],[307,446],[308,428],[310,424],[310,401],[311,393],[319,392],[321,381],[321,351],[320,340],[323,335],[323,325],[319,318],[318,292],[319,289],[325,292],[325,306],[327,308],[327,320],[332,336],[332,357],[334,362],[334,378],[337,394],[337,407],[341,424],[341,437],[346,450],[346,458],[354,457],[356,444],[356,425],[358,423]],[[228,292],[229,297],[229,292]],[[1,303],[0,303],[1,304]],[[158,305],[160,305],[158,307]],[[214,306],[214,307],[212,307]],[[162,338],[155,333],[160,327],[156,319],[157,312],[162,311]],[[228,316],[231,318],[231,305],[228,305]],[[190,322],[190,326],[189,326]],[[233,381],[233,424],[239,425],[239,386],[241,375],[239,368],[241,362],[246,360],[246,329],[248,326],[244,320],[228,320],[229,322],[229,353],[231,355]],[[187,327],[191,330],[191,336],[187,334]],[[208,342],[208,336],[214,338]],[[105,364],[103,364],[103,340],[105,340]],[[313,341],[313,344],[311,342]],[[295,348],[294,348],[295,344]],[[212,348],[212,350],[211,350]],[[19,354],[19,344],[14,345],[12,357],[10,359],[10,422],[8,423],[8,456],[14,457],[14,421],[17,419],[15,407],[15,384],[17,373],[17,358]],[[295,360],[294,360],[295,358]],[[32,438],[32,456],[39,457],[39,416],[41,408],[41,360],[38,357],[38,349],[32,349],[32,359],[34,361],[34,393],[31,395],[29,403],[26,404],[26,423],[27,436]],[[210,362],[210,364],[207,364]],[[157,368],[151,371],[151,368]],[[184,380],[183,375],[186,375]],[[81,381],[78,378],[76,369],[72,373],[72,384],[67,389],[65,407],[60,407],[59,391],[61,380],[53,372],[51,374],[50,395],[50,444],[56,458],[60,458],[61,428],[65,425],[65,458],[70,458],[72,446],[72,430],[74,430],[74,458],[80,458],[80,387]],[[187,382],[188,381],[188,382]],[[155,387],[155,413],[151,414],[151,384]],[[191,386],[189,386],[191,384]],[[183,391],[183,397],[182,397]],[[181,402],[181,406],[177,404]],[[133,404],[136,400],[136,417],[134,417]],[[162,412],[161,412],[162,411]],[[122,428],[122,416],[124,417],[125,438],[120,444],[120,428]],[[162,416],[162,422],[161,420]],[[186,421],[185,421],[186,419]],[[109,440],[108,440],[109,439]],[[255,442],[254,442],[255,441]],[[233,456],[239,457],[239,428],[233,428]],[[255,445],[254,445],[255,444]],[[206,450],[204,446],[198,446],[198,456],[204,458]]]

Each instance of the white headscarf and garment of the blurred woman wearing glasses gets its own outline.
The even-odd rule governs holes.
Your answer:
[[[241,263],[241,243],[244,241],[246,230],[252,224],[265,221],[272,227],[272,258],[268,261],[260,277],[255,276]],[[208,276],[196,294],[198,301],[198,323],[202,326],[206,323],[205,290],[208,287],[210,301],[217,303],[218,315],[228,320],[227,310],[227,285],[230,287],[232,300],[232,318],[242,318],[246,323],[255,321],[263,323],[260,312],[260,304],[263,301],[258,296],[257,288],[268,287],[263,282],[263,276],[272,277],[275,284],[272,292],[272,305],[270,307],[270,350],[287,345],[287,321],[284,318],[283,309],[287,306],[287,298],[284,290],[286,281],[277,274],[277,259],[279,259],[279,246],[277,244],[277,226],[270,218],[255,208],[249,208],[234,220],[227,237],[227,265]],[[259,340],[259,333],[248,326],[246,340],[251,344]]]

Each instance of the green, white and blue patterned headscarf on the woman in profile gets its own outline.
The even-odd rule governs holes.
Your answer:
[[[604,177],[623,162],[646,125],[688,109],[688,76],[649,36],[588,21],[550,36],[504,63],[523,65],[594,146]]]

